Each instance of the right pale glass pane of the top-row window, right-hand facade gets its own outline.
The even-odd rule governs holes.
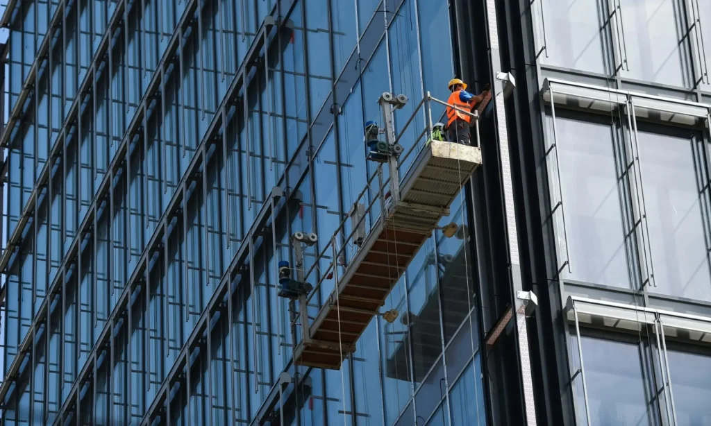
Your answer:
[[[678,0],[620,0],[624,49],[636,80],[690,87],[688,26]],[[549,37],[550,40],[550,37]]]

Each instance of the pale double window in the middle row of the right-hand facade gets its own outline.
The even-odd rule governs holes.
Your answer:
[[[562,278],[711,301],[707,119],[663,124],[634,102],[609,115],[563,107],[546,118]]]

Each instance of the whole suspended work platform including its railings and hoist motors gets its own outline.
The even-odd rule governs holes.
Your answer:
[[[355,343],[370,320],[376,315],[383,315],[380,307],[390,291],[432,232],[441,229],[438,226],[440,220],[449,215],[450,204],[481,165],[478,131],[474,141],[477,146],[430,141],[427,138],[432,134],[432,119],[428,115],[430,101],[446,105],[429,97],[429,94],[420,102],[412,118],[417,114],[422,116],[421,107],[424,106],[424,115],[428,116],[426,129],[420,133],[407,155],[398,155],[389,163],[378,165],[378,170],[354,204],[352,213],[356,214],[351,215],[349,229],[352,231],[345,243],[336,244],[347,231],[344,227],[346,222],[343,222],[331,242],[317,256],[316,263],[324,257],[335,262],[331,261],[331,266],[321,274],[321,280],[308,297],[299,298],[299,317],[294,317],[292,321],[292,326],[294,322],[301,322],[301,335],[296,337],[299,343],[294,349],[294,364],[341,368],[343,359],[355,351]],[[388,133],[391,135],[388,143],[395,146],[400,138],[395,138],[392,132],[392,110],[385,109],[385,106],[383,109],[385,133],[386,136]],[[472,116],[475,119],[478,117],[476,112]],[[412,118],[405,127],[412,122]],[[401,131],[400,135],[404,133]],[[426,143],[423,136],[427,138]],[[410,153],[415,153],[412,155],[414,160],[406,162]],[[398,175],[403,166],[407,167],[407,172],[400,179]],[[383,168],[389,172],[390,178],[383,178]],[[371,184],[375,176],[378,176],[378,187],[374,190]],[[359,204],[358,201],[368,200],[368,195],[365,195],[367,190],[370,190],[372,201],[365,208],[366,204]],[[373,218],[370,225],[366,225],[367,218]],[[348,253],[345,248],[353,246],[357,250],[351,259],[346,259]],[[312,267],[301,278],[308,278],[313,270]],[[326,281],[328,284],[324,284]],[[325,298],[318,314],[309,317],[307,312],[313,306],[309,306],[309,302],[318,293],[316,290],[324,285],[333,285],[333,290]],[[393,315],[397,316],[397,312],[386,312],[384,316],[392,321]]]

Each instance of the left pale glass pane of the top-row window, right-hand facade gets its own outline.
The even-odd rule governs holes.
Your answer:
[[[607,1],[543,1],[546,52],[540,55],[548,65],[609,74],[611,37]],[[541,35],[542,37],[542,35]]]

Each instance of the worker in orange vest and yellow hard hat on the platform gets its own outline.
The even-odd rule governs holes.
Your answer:
[[[451,95],[449,95],[447,104],[454,105],[459,108],[454,109],[453,107],[447,107],[447,130],[449,131],[449,141],[464,143],[464,145],[471,145],[471,132],[469,131],[471,115],[466,113],[474,111],[476,106],[486,97],[486,94],[488,94],[488,85],[480,94],[476,96],[467,92],[466,83],[458,78],[449,80],[448,87],[451,91]]]

